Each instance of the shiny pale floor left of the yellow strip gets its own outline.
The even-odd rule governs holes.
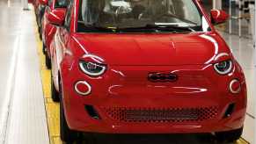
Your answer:
[[[0,143],[49,141],[34,25],[19,0],[0,1]]]

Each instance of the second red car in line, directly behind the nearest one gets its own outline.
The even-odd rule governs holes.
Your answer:
[[[65,11],[67,6],[67,0],[52,0],[49,2],[48,5],[45,7],[44,16],[41,20],[41,34],[42,34],[42,43],[43,43],[43,52],[46,54],[46,65],[47,68],[51,68],[51,60],[50,60],[50,44],[54,38],[56,32],[56,26],[49,23],[49,15],[52,16],[50,13],[55,13],[56,18],[64,17]]]

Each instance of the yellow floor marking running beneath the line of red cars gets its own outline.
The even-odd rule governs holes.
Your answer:
[[[37,48],[38,55],[40,57],[40,75],[43,86],[43,94],[45,97],[45,105],[47,110],[48,119],[48,131],[51,144],[62,144],[60,139],[60,104],[54,103],[51,99],[51,88],[50,88],[50,70],[45,65],[45,55],[42,53],[42,42],[39,38],[39,33],[36,30]],[[236,144],[249,144],[244,139],[240,139]]]

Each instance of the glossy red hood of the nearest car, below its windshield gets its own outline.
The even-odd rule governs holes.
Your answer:
[[[84,54],[95,54],[110,65],[167,66],[208,64],[216,54],[229,53],[217,34],[74,34]],[[223,47],[226,47],[224,49]],[[222,48],[222,49],[221,49]]]

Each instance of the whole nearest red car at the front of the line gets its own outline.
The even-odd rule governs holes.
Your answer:
[[[52,97],[61,137],[77,133],[215,133],[238,140],[245,76],[197,0],[70,0],[55,11]],[[62,21],[60,20],[62,18]]]

